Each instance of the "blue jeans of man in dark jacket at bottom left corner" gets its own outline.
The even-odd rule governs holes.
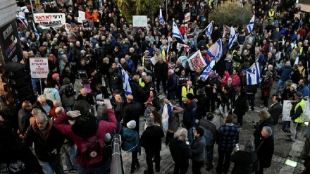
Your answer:
[[[59,154],[56,155],[54,159],[49,161],[39,160],[39,163],[42,166],[42,170],[45,174],[64,174],[63,165],[61,163],[61,156]]]

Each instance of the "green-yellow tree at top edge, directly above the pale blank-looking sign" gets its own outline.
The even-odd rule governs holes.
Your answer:
[[[147,15],[153,18],[162,3],[162,0],[117,0],[118,8],[129,22],[132,22],[132,15]]]

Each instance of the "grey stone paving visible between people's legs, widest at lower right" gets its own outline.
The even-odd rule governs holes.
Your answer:
[[[76,84],[78,84],[78,80]],[[273,91],[275,89],[276,83],[273,84]],[[75,85],[75,89],[78,89],[77,85]],[[260,100],[260,91],[256,93],[256,106],[260,106],[262,104]],[[164,98],[164,95],[161,94],[159,96],[162,99]],[[271,105],[271,100],[269,100],[269,106]],[[244,125],[242,126],[242,130],[240,130],[240,148],[242,149],[244,142],[246,142],[247,139],[254,140],[253,132],[254,129],[252,128],[251,121],[252,120],[259,120],[258,113],[261,111],[261,108],[255,108],[255,111],[252,112],[249,110],[244,116]],[[182,118],[182,116],[180,116]],[[235,120],[236,121],[236,120]],[[142,128],[144,126],[144,120],[143,118],[140,118],[140,135],[142,135]],[[287,139],[287,134],[280,131],[281,125],[278,125],[275,128],[275,153],[273,156],[273,161],[271,163],[271,168],[268,168],[264,170],[264,173],[279,173],[279,174],[298,174],[303,169],[303,162],[302,160],[297,159],[297,156],[299,156],[302,152],[302,147],[304,147],[304,135],[306,133],[306,125],[301,125],[299,128],[297,128],[297,140],[294,143],[286,142],[285,139]],[[179,128],[180,130],[180,128]],[[166,134],[166,132],[165,132]],[[175,134],[178,135],[178,132]],[[174,163],[173,159],[171,157],[169,147],[166,147],[164,144],[165,138],[162,139],[162,150],[161,150],[161,171],[160,173],[167,173],[172,174]],[[130,163],[131,163],[131,153],[126,153],[125,151],[122,151],[123,154],[123,162],[125,166],[125,173],[130,173]],[[138,159],[140,161],[140,168],[137,168],[135,173],[143,173],[144,170],[147,169],[147,163],[146,163],[146,156],[144,153],[144,149],[142,148],[141,156],[138,156]],[[218,160],[217,155],[217,146],[214,147],[214,158],[213,158],[213,166],[216,167]],[[202,168],[202,173],[216,173],[215,169],[210,170],[207,172],[205,170],[205,166]],[[230,171],[233,168],[233,163],[230,165]],[[192,165],[190,164],[190,168],[187,171],[187,173],[192,173]],[[154,170],[155,171],[155,170]]]

